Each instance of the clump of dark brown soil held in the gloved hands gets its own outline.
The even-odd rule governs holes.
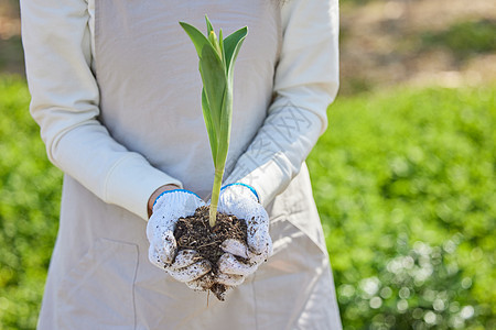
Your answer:
[[[247,243],[247,226],[245,220],[235,216],[217,212],[214,227],[208,223],[209,207],[200,207],[191,217],[177,220],[174,237],[177,242],[177,252],[181,250],[195,250],[201,256],[208,260],[212,271],[206,276],[215,277],[218,271],[218,260],[225,253],[220,244],[227,239],[235,239]],[[248,243],[247,243],[248,244]],[[219,300],[224,300],[227,287],[214,283],[209,290]]]

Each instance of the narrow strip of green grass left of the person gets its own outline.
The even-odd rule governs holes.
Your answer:
[[[0,77],[0,329],[34,329],[60,208],[25,82]]]

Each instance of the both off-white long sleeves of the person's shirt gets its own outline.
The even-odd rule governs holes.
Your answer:
[[[91,0],[66,0],[63,6],[56,0],[21,1],[31,113],[56,166],[104,201],[147,219],[151,194],[182,183],[117,143],[98,121],[94,10]],[[326,107],[338,87],[337,1],[287,1],[281,22],[276,101],[226,179],[252,185],[263,206],[300,170],[326,127]]]

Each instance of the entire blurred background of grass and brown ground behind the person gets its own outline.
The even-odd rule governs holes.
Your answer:
[[[496,329],[489,8],[342,1],[342,89],[308,163],[345,329]],[[35,328],[62,185],[19,30],[0,3],[0,329]]]

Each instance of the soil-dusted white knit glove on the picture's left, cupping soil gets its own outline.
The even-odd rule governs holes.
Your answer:
[[[150,262],[164,268],[179,282],[195,280],[212,270],[211,263],[194,250],[176,253],[177,243],[174,238],[177,219],[193,216],[195,210],[204,205],[205,202],[192,191],[168,190],[157,198],[147,224]]]

